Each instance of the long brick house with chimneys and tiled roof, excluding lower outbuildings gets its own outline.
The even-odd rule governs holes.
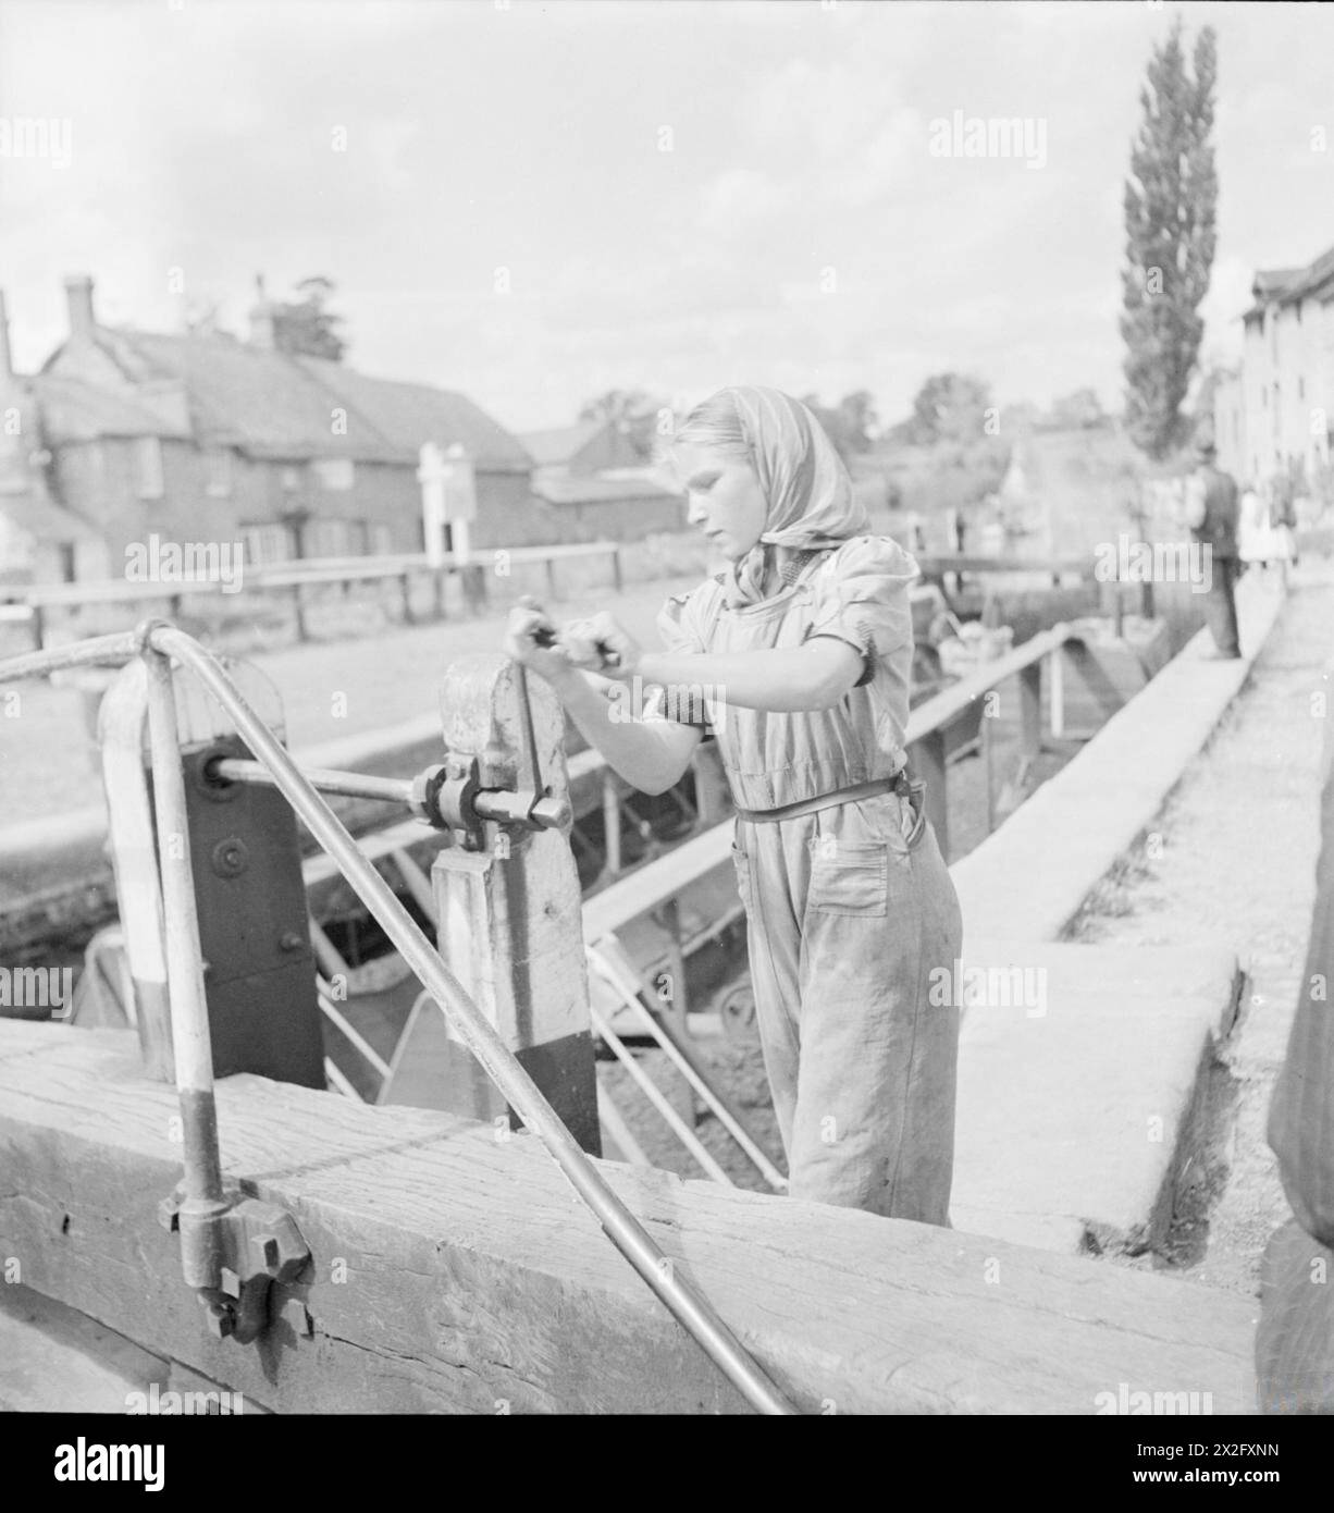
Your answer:
[[[26,487],[91,530],[112,573],[150,533],[242,540],[253,561],[420,551],[425,442],[473,461],[473,546],[567,539],[529,454],[460,393],[280,353],[265,304],[242,342],[103,327],[92,280],[65,289],[68,337],[32,377],[6,360],[0,384],[29,418]],[[11,474],[23,461],[11,448]]]

